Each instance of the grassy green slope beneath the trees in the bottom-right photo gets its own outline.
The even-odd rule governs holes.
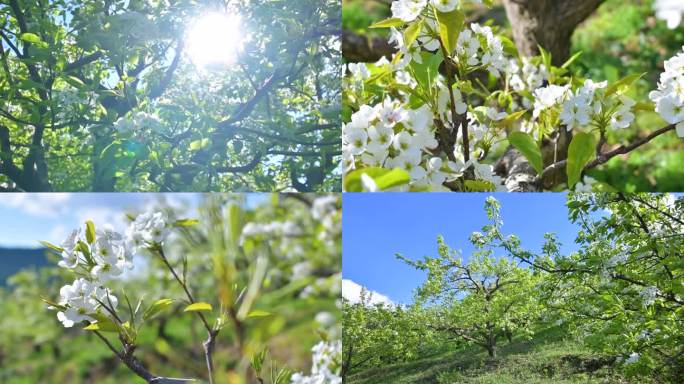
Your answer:
[[[350,384],[463,383],[571,384],[627,383],[610,367],[612,359],[588,352],[558,329],[532,340],[504,343],[491,361],[477,347],[448,351],[421,360],[356,373]]]

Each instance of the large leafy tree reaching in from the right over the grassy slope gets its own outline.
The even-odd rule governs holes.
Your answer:
[[[682,201],[673,195],[571,194],[577,252],[563,255],[553,234],[541,253],[504,235],[483,234],[543,276],[544,317],[566,325],[628,373],[677,382],[682,371]],[[494,211],[498,216],[498,208]]]

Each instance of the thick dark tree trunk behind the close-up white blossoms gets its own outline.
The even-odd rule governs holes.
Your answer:
[[[570,40],[575,28],[586,20],[604,0],[504,0],[513,38],[523,56],[539,54],[539,46],[551,53],[554,65],[560,66],[570,56]],[[544,166],[564,160],[572,134],[560,129],[553,140],[542,143]],[[541,183],[527,160],[513,147],[496,165],[506,187],[515,192],[550,189],[566,181],[565,168],[548,174]]]

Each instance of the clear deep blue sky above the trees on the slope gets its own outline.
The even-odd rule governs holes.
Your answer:
[[[425,275],[404,264],[436,255],[437,236],[467,258],[468,237],[488,223],[485,199],[492,194],[347,193],[343,196],[342,276],[398,303],[409,303]],[[506,234],[518,235],[524,247],[539,250],[546,232],[554,232],[563,251],[574,250],[577,227],[570,223],[565,194],[494,194],[501,202]]]

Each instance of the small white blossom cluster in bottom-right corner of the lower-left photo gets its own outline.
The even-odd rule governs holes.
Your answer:
[[[321,341],[311,352],[313,364],[311,375],[303,373],[292,375],[292,384],[341,384],[342,341]]]

